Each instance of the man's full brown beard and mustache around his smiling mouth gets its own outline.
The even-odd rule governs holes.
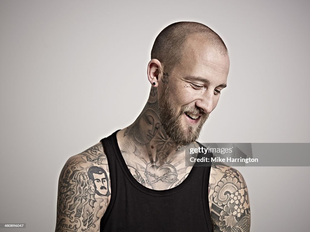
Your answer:
[[[200,135],[203,124],[209,117],[209,114],[201,112],[196,105],[184,105],[181,107],[180,111],[177,112],[171,101],[171,92],[168,83],[163,84],[162,94],[158,96],[158,108],[160,121],[166,135],[179,146],[187,146],[190,143],[194,143]],[[182,126],[181,117],[185,112],[202,114],[197,126]]]

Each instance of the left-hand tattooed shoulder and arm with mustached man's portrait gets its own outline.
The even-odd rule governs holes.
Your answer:
[[[98,143],[69,158],[60,173],[55,232],[99,232],[109,200],[108,162]]]

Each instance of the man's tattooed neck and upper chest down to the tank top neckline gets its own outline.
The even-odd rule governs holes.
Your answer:
[[[185,147],[166,135],[158,113],[157,88],[129,127],[117,132],[117,142],[126,165],[145,187],[165,190],[184,181],[192,167],[185,164]]]

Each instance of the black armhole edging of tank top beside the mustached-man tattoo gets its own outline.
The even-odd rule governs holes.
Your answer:
[[[117,130],[119,131],[119,130]],[[100,219],[100,231],[103,231],[104,228],[101,228],[101,225],[105,225],[106,221],[108,220],[108,217],[110,216],[110,213],[112,211],[115,199],[116,199],[116,167],[115,167],[115,162],[116,161],[116,157],[113,157],[112,154],[114,154],[114,149],[113,149],[113,135],[117,133],[117,131],[115,131],[112,135],[108,136],[107,138],[104,138],[102,140],[100,140],[100,142],[103,145],[105,154],[107,156],[107,160],[108,160],[108,167],[109,167],[109,175],[110,175],[110,188],[111,188],[111,198],[110,198],[110,202],[108,204],[108,207],[104,213],[104,215],[101,217]]]

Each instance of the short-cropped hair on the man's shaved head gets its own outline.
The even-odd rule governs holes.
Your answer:
[[[159,60],[165,71],[180,62],[188,38],[200,38],[206,41],[222,55],[227,55],[227,48],[217,33],[204,24],[197,22],[177,22],[164,28],[156,37],[151,59]]]

